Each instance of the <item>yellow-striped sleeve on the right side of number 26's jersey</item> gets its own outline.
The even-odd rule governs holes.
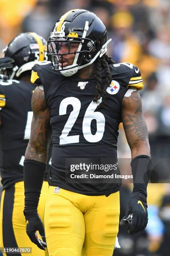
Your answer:
[[[129,84],[127,85],[127,87],[129,86],[135,87],[137,90],[143,89],[142,76],[138,67],[133,66]]]

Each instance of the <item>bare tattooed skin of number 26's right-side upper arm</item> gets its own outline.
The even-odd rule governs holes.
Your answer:
[[[130,97],[123,98],[122,122],[132,158],[139,155],[150,156],[148,129],[143,117],[142,102],[138,91],[132,92]]]

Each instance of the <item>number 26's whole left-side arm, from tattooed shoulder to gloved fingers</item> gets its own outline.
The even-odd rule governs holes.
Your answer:
[[[45,104],[44,91],[36,87],[32,95],[33,118],[31,135],[25,153],[24,188],[26,232],[30,240],[45,250],[45,233],[37,214],[37,207],[47,162],[47,148],[50,142],[50,112]],[[39,231],[42,240],[36,236]]]

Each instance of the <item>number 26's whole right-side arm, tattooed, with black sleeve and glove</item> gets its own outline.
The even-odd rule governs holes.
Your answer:
[[[150,178],[148,173],[150,170],[148,130],[138,91],[123,98],[122,121],[132,154],[130,165],[133,174],[133,193],[126,207],[125,216],[120,220],[120,226],[127,228],[127,220],[130,220],[127,231],[133,235],[145,229],[148,223],[147,185]]]

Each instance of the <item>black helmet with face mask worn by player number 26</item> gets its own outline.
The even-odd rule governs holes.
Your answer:
[[[107,31],[94,13],[88,10],[70,10],[57,20],[50,34],[47,46],[47,55],[50,57],[53,68],[60,70],[64,76],[72,76],[78,69],[92,64],[98,56],[107,51]],[[73,64],[63,67],[63,56],[70,53],[71,45],[78,43],[74,52]],[[60,47],[67,44],[65,53],[60,53]],[[60,59],[60,65],[59,65]]]

